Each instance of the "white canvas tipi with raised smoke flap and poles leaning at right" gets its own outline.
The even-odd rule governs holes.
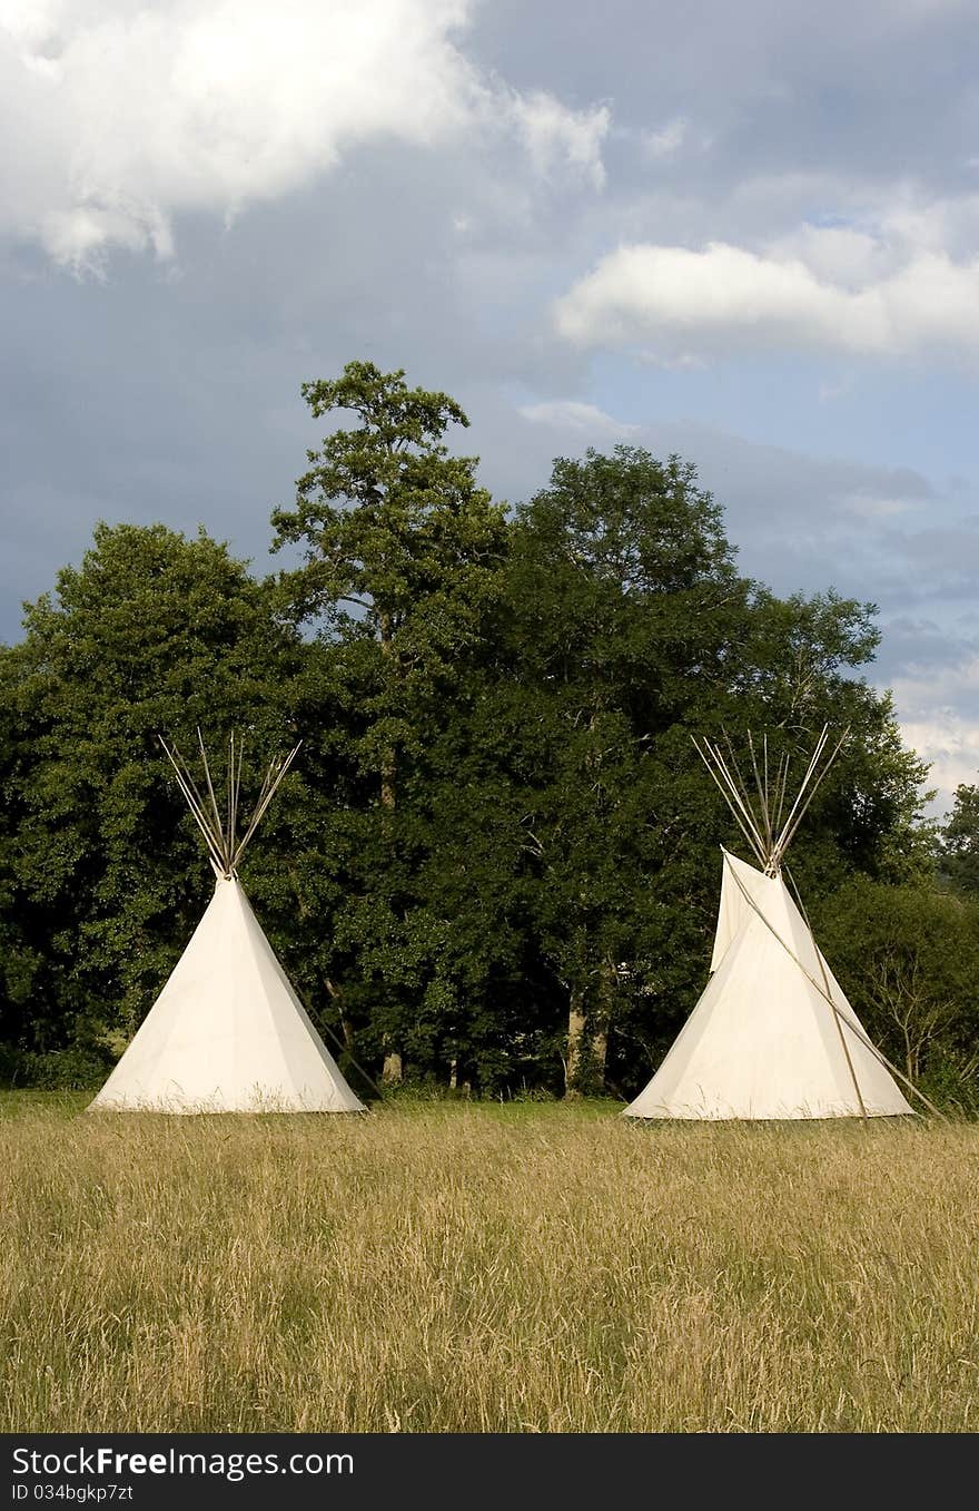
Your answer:
[[[820,769],[825,746],[826,730],[783,825],[787,765],[780,765],[769,784],[767,751],[760,768],[752,751],[758,777],[758,802],[752,804],[733,765],[704,742],[701,756],[763,869],[722,851],[710,982],[651,1082],[625,1108],[627,1117],[870,1118],[911,1112],[893,1067],[867,1038],[781,875],[786,846],[840,748],[837,743]]]

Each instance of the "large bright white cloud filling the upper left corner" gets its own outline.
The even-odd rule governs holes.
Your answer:
[[[234,215],[347,150],[518,139],[603,180],[604,107],[479,74],[470,0],[0,0],[0,230],[59,261],[172,251],[181,210]]]

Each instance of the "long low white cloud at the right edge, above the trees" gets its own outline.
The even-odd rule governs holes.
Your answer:
[[[860,233],[817,228],[792,251],[619,246],[557,301],[554,322],[583,348],[653,346],[666,355],[736,345],[979,352],[979,258],[885,248],[890,266],[873,277],[875,255]]]

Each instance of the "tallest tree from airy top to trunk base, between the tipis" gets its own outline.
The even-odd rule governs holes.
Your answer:
[[[480,654],[505,511],[477,485],[476,459],[444,444],[449,426],[468,425],[447,394],[409,388],[403,372],[372,363],[349,363],[302,393],[316,419],[349,411],[358,420],[308,452],[295,506],[272,515],[273,548],[304,550],[304,565],[283,574],[284,598],[331,647],[352,765],[375,784],[352,858],[360,875],[335,929],[367,981],[385,1076],[399,1079],[405,1041],[418,1034],[417,1011],[406,1011],[412,993],[431,987],[447,1000],[438,966],[447,923],[426,916],[417,895],[425,840],[403,799]]]

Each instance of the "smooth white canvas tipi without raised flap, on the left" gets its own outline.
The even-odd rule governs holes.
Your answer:
[[[215,895],[91,1111],[363,1112],[237,879],[242,851],[296,751],[272,762],[252,820],[236,840],[242,763],[234,742],[225,819],[210,775],[205,802],[177,752],[163,748],[207,842]]]

